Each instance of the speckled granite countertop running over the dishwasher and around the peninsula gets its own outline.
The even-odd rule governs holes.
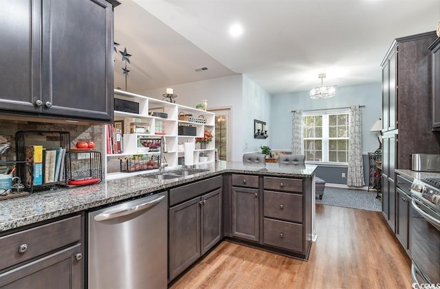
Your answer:
[[[300,167],[278,163],[259,165],[220,161],[219,163],[199,165],[197,168],[208,169],[208,171],[170,180],[130,176],[128,178],[103,180],[96,185],[74,188],[61,187],[54,190],[34,192],[29,196],[0,200],[0,231],[7,231],[69,213],[115,203],[127,198],[162,191],[169,187],[176,187],[225,172],[311,177],[314,175],[316,165]]]

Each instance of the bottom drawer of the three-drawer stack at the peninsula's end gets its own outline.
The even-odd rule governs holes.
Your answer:
[[[303,225],[264,218],[264,244],[303,252]]]

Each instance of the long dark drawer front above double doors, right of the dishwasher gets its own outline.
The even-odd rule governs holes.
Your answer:
[[[223,176],[214,176],[212,178],[207,178],[203,181],[198,181],[195,183],[190,183],[188,185],[182,185],[181,187],[176,187],[175,189],[170,189],[170,206],[184,202],[185,200],[190,200],[192,198],[200,196],[201,194],[211,192],[214,189],[218,189],[222,185]]]

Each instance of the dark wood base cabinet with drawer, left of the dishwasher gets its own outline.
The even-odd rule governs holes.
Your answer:
[[[0,287],[85,288],[83,216],[5,232],[0,238]]]

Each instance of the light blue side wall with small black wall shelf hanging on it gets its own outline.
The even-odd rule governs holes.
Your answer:
[[[270,129],[271,95],[261,86],[243,76],[243,152],[259,152],[261,146],[270,146],[270,137],[267,139],[254,139],[254,119],[266,122]]]

